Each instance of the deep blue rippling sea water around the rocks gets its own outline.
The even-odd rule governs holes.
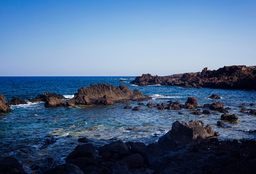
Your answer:
[[[188,122],[192,119],[204,121],[219,132],[218,139],[255,139],[256,116],[239,112],[242,103],[246,108],[256,109],[256,91],[223,90],[210,88],[180,88],[177,86],[146,86],[130,84],[135,77],[0,77],[0,94],[10,101],[13,97],[35,98],[45,92],[72,98],[77,89],[90,84],[108,83],[114,86],[125,84],[130,89],[138,89],[153,97],[144,101],[141,110],[124,109],[127,102],[113,106],[84,106],[77,108],[45,108],[43,103],[28,103],[11,106],[11,113],[0,116],[0,156],[13,156],[20,161],[27,172],[30,165],[43,163],[46,157],[55,156],[58,164],[65,163],[66,156],[79,144],[78,139],[87,137],[98,148],[116,140],[140,141],[146,144],[157,142],[159,137],[171,130],[176,120]],[[124,80],[119,82],[119,80]],[[221,99],[209,99],[212,94]],[[220,101],[224,108],[231,108],[229,114],[236,114],[236,122],[225,121],[225,126],[216,126],[221,113],[211,111],[211,115],[193,115],[195,110],[157,110],[146,104],[161,104],[169,100],[184,104],[188,97],[196,97],[198,106]],[[205,108],[200,108],[201,112]],[[182,114],[178,114],[182,112]],[[47,139],[56,140],[47,143]]]

